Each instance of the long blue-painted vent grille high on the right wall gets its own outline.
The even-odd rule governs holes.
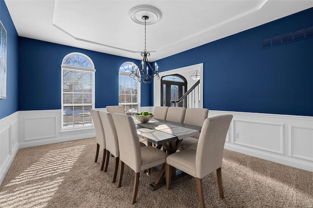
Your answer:
[[[262,40],[262,48],[267,48],[270,46],[310,37],[313,37],[313,26],[282,34],[279,36],[265,38]]]

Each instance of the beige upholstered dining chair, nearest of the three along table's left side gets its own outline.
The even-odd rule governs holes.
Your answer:
[[[120,157],[117,188],[121,187],[124,164],[126,164],[135,172],[133,197],[131,201],[131,203],[134,204],[138,192],[140,171],[164,164],[167,154],[154,147],[140,147],[134,120],[131,116],[119,113],[113,113],[112,116],[117,132]]]

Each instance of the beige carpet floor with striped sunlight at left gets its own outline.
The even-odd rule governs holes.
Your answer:
[[[100,171],[95,139],[50,144],[18,151],[0,186],[0,208],[197,208],[196,181],[186,175],[171,190],[148,188],[156,171],[141,172],[137,202],[131,205],[134,171],[125,166],[122,187],[112,184],[113,162]],[[102,151],[100,152],[102,155]],[[216,173],[203,178],[207,208],[313,208],[313,172],[224,150],[225,199]]]

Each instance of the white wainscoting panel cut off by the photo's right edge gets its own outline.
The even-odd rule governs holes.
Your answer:
[[[313,128],[290,126],[290,155],[313,161]]]

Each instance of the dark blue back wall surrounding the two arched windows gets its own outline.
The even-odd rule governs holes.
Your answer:
[[[89,56],[96,69],[95,107],[118,104],[118,70],[126,57],[19,37],[19,110],[61,109],[61,63],[72,52]],[[151,85],[141,85],[141,105],[150,106]]]

